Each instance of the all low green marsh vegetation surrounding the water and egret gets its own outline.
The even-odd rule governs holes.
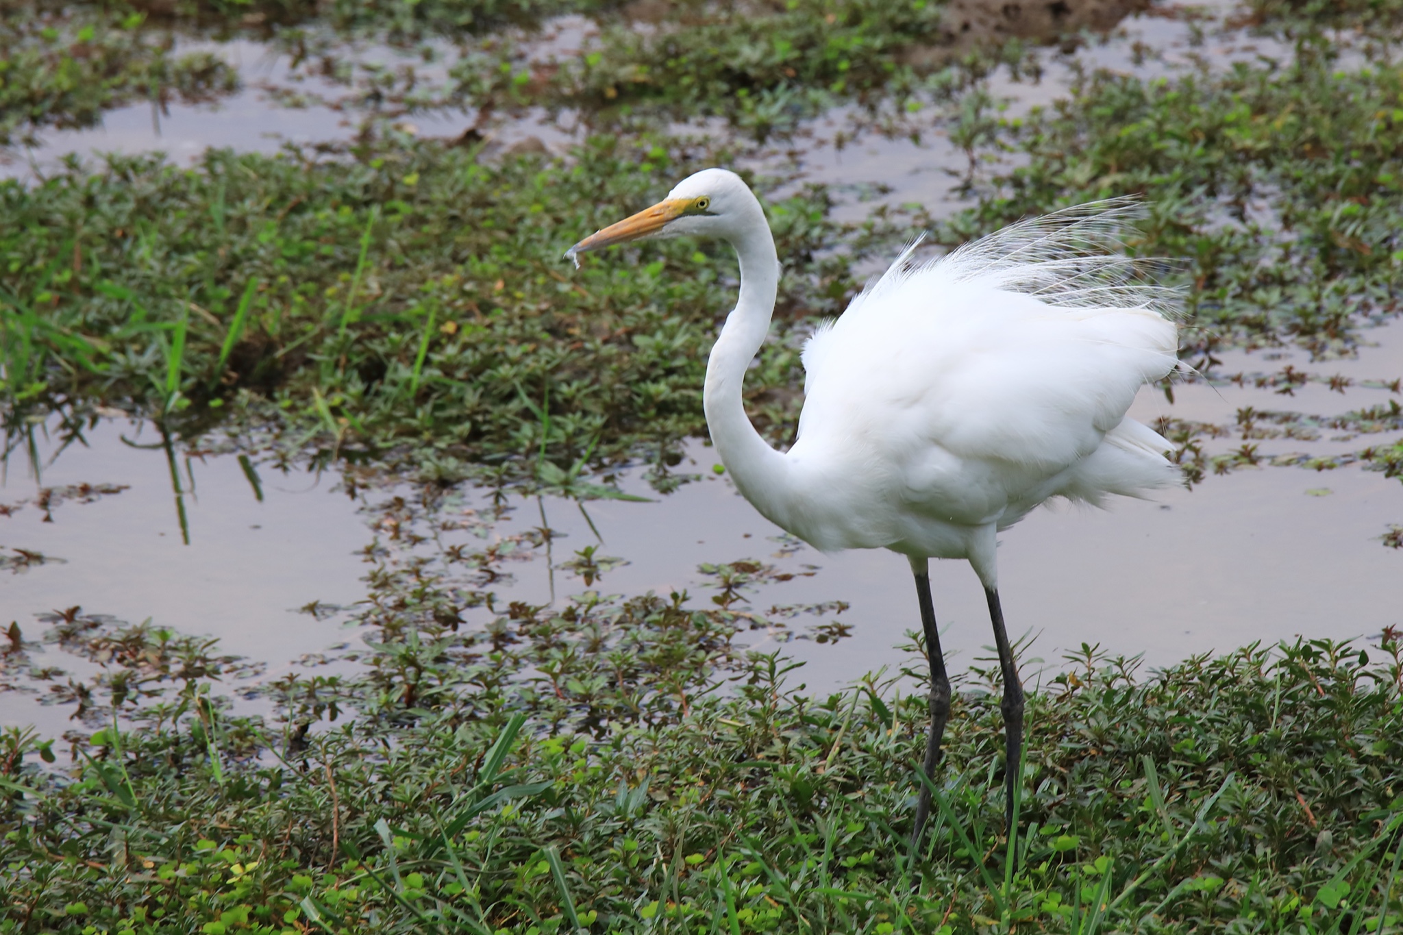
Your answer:
[[[672,241],[574,271],[561,252],[706,164],[770,167],[751,175],[787,265],[746,390],[777,440],[808,329],[840,311],[854,265],[916,226],[953,245],[1142,196],[1127,248],[1181,264],[1186,356],[1208,374],[1230,346],[1350,353],[1396,314],[1403,86],[1375,45],[1396,28],[1389,3],[1258,3],[1247,13],[1277,57],[1086,73],[1016,119],[986,79],[1037,63],[1017,43],[961,45],[943,10],[130,0],[41,15],[0,0],[11,140],[237,87],[216,53],[182,57],[171,35],[264,38],[365,118],[352,143],[0,182],[8,440],[53,414],[76,428],[121,409],[167,444],[222,430],[250,453],[369,465],[347,468],[362,489],[403,471],[366,548],[363,642],[325,667],[257,683],[208,641],[79,607],[3,632],[0,690],[41,685],[74,721],[62,740],[0,735],[0,934],[1403,931],[1396,631],[1148,674],[1094,649],[1065,660],[1030,694],[1012,849],[996,673],[976,667],[913,855],[925,698],[882,676],[812,698],[783,659],[748,655],[742,629],[783,625],[737,604],[759,562],[706,566],[710,601],[610,596],[615,559],[593,550],[556,565],[591,589],[570,600],[492,592],[551,533],[543,519],[485,545],[494,517],[455,485],[610,495],[586,477],[644,458],[665,486],[704,428],[731,258]],[[543,60],[535,28],[558,14],[598,36]],[[1372,32],[1344,56],[1337,31],[1352,25]],[[328,52],[348,36],[439,64],[450,42],[459,57],[432,80],[358,70]],[[835,105],[843,132],[947,135],[969,207],[833,220],[845,192],[794,185],[766,146],[801,146]],[[528,108],[577,121],[572,142],[492,139]],[[428,111],[467,129],[418,139],[401,121]],[[704,133],[659,129],[702,116]],[[1282,394],[1309,378],[1216,376]],[[1374,388],[1388,402],[1329,419],[1244,409],[1232,426],[1163,428],[1202,477],[1258,463],[1267,437],[1397,430],[1397,383]],[[1237,436],[1240,450],[1205,454]],[[1308,467],[1351,461],[1403,475],[1403,446]],[[45,648],[95,674],[52,669]]]

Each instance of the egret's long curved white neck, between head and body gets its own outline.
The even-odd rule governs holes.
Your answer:
[[[745,499],[774,520],[773,513],[787,489],[783,482],[784,456],[772,449],[751,425],[741,394],[745,371],[770,329],[780,280],[774,238],[770,237],[759,205],[756,214],[755,223],[731,237],[731,245],[741,261],[741,296],[707,359],[702,402],[711,442],[731,479]]]

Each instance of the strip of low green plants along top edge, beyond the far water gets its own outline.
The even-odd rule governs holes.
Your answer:
[[[563,14],[578,20],[571,28],[588,24],[598,35],[543,57],[533,42],[550,17]],[[8,0],[0,3],[0,31],[27,43],[17,48],[34,48],[15,60],[25,77],[11,87],[22,88],[25,107],[10,114],[11,136],[0,144],[31,140],[43,126],[90,126],[102,109],[143,93],[166,100],[231,91],[234,76],[210,53],[187,56],[178,67],[167,63],[166,50],[189,38],[267,42],[302,81],[344,88],[333,94],[335,104],[369,126],[418,112],[476,114],[490,123],[497,112],[543,107],[600,130],[721,118],[765,139],[793,133],[803,119],[842,102],[891,122],[919,111],[925,98],[967,87],[999,60],[1023,57],[1017,42],[957,48],[943,17],[944,4],[934,0],[724,7],[697,0],[133,0],[56,11]],[[403,57],[366,62],[365,43],[393,46]],[[87,80],[74,84],[77,76]],[[285,104],[307,104],[327,93],[296,87],[281,94]]]

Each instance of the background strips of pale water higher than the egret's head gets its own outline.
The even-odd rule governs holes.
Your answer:
[[[1006,118],[1026,115],[1034,107],[1049,105],[1072,87],[1079,70],[1110,69],[1142,77],[1169,74],[1193,67],[1202,57],[1216,67],[1257,55],[1289,57],[1289,49],[1223,22],[1233,6],[1225,0],[1195,6],[1204,17],[1200,28],[1176,6],[1153,14],[1132,15],[1104,39],[1072,52],[1034,49],[1031,69],[1014,77],[996,69],[984,83],[991,112]],[[644,24],[636,24],[645,28]],[[1202,36],[1207,34],[1207,41]],[[568,15],[550,21],[539,34],[519,36],[519,49],[532,63],[568,59],[591,48],[598,28],[585,17]],[[296,67],[290,56],[272,43],[240,39],[224,43],[180,42],[181,50],[208,50],[223,56],[240,74],[241,90],[213,104],[168,104],[160,114],[150,104],[133,104],[109,111],[102,125],[81,130],[45,130],[42,146],[34,150],[0,151],[0,178],[34,178],[53,171],[63,157],[91,160],[101,153],[164,151],[178,164],[196,160],[206,147],[272,153],[282,146],[328,140],[349,140],[372,111],[358,107],[355,90],[333,83],[306,66]],[[431,43],[435,62],[425,63],[415,49],[366,43],[333,42],[333,55],[354,69],[363,64],[389,69],[412,67],[428,81],[442,80],[446,63],[455,59],[449,43]],[[304,107],[283,107],[279,101],[300,100]],[[390,105],[386,104],[389,108]],[[760,149],[742,161],[756,168],[793,175],[793,185],[824,182],[839,188],[835,217],[861,221],[873,205],[920,205],[934,217],[944,217],[968,205],[968,157],[951,143],[948,122],[960,102],[930,102],[922,114],[902,122],[919,132],[912,139],[902,132],[884,135],[860,129],[868,121],[856,108],[835,108],[829,115],[800,128],[794,140],[776,149]],[[995,111],[996,108],[996,111]],[[419,136],[457,137],[476,116],[459,108],[415,108],[394,122],[403,132]],[[857,129],[854,129],[857,128]],[[530,111],[499,118],[483,128],[501,147],[528,137],[553,151],[564,151],[584,139],[585,129],[571,126],[570,115],[551,121]],[[710,136],[728,130],[716,123],[690,129]],[[1002,165],[1007,165],[1005,157]],[[978,167],[978,175],[992,164]],[[787,191],[787,189],[781,189]]]

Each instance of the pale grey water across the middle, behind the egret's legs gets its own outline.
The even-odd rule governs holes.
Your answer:
[[[1344,393],[1309,384],[1285,397],[1200,381],[1179,385],[1173,404],[1146,388],[1132,412],[1145,421],[1172,416],[1232,426],[1247,405],[1316,415],[1386,405],[1399,394],[1358,383],[1403,376],[1403,324],[1369,334],[1375,346],[1351,360],[1310,363],[1302,352],[1288,350],[1225,359],[1228,373],[1230,367],[1274,371],[1289,363],[1323,377],[1352,374],[1357,383]],[[1258,444],[1266,454],[1322,454],[1397,437],[1338,440],[1324,433],[1316,442]],[[76,604],[133,622],[152,617],[163,627],[220,638],[226,650],[268,663],[268,676],[295,667],[304,653],[358,638],[347,621],[365,597],[366,565],[358,552],[373,537],[366,500],[340,492],[333,475],[281,474],[261,465],[260,502],[234,456],[182,454],[177,470],[187,544],[159,443],[150,426],[108,422],[87,435],[87,446],[72,446],[45,467],[39,481],[27,475],[22,458],[11,457],[0,503],[32,499],[41,482],[129,489],[91,503],[65,502],[52,509],[52,521],[32,502],[0,517],[0,552],[14,555],[21,548],[62,559],[0,572],[0,625],[17,621],[38,632],[38,614]],[[1239,437],[1218,439],[1209,449],[1237,444]],[[814,691],[909,662],[897,649],[918,625],[905,561],[884,551],[822,555],[786,541],[724,477],[711,472],[714,460],[704,442],[693,443],[679,470],[702,479],[668,496],[650,491],[637,474],[626,475],[622,486],[652,496],[647,503],[595,500],[581,510],[564,499],[515,499],[494,535],[549,526],[557,537],[549,555],[515,564],[509,579],[494,589],[502,600],[564,601],[585,587],[561,565],[574,551],[598,545],[600,555],[627,564],[607,571],[596,589],[687,590],[700,606],[714,593],[697,571],[700,564],[759,559],[796,578],[756,589],[739,610],[770,615],[774,606],[825,601],[846,601],[849,608],[801,613],[786,629],[744,634],[742,643],[805,662],[796,678]],[[383,495],[365,496],[373,502]],[[470,495],[470,502],[485,503],[485,496]],[[1379,540],[1395,523],[1403,524],[1403,484],[1358,467],[1246,468],[1209,475],[1191,491],[1169,491],[1155,500],[1122,499],[1108,510],[1048,507],[1002,535],[1005,610],[1014,634],[1037,636],[1030,674],[1038,667],[1033,659],[1055,664],[1083,642],[1167,664],[1298,634],[1369,636],[1403,625],[1395,600],[1403,551]],[[932,580],[953,663],[964,667],[986,656],[988,615],[974,573],[964,562],[933,562]],[[348,610],[317,620],[299,610],[313,601]],[[808,638],[812,625],[835,620],[850,625],[849,638],[836,643]],[[62,659],[52,663],[73,670]],[[27,697],[0,695],[0,722],[39,721],[62,729],[63,716],[35,709]]]

